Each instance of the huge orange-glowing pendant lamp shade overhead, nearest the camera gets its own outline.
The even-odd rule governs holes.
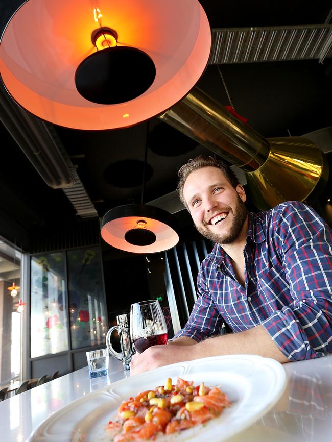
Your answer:
[[[101,12],[99,22],[93,8]],[[114,30],[117,47],[144,53],[147,65],[152,61],[151,86],[147,82],[147,89],[137,88],[140,95],[129,94],[128,101],[112,104],[108,90],[109,96],[101,92],[93,102],[77,89],[77,69],[85,68],[84,61],[97,52],[91,36],[101,27]],[[209,23],[197,0],[30,0],[2,35],[0,73],[14,100],[46,121],[74,129],[124,128],[164,112],[187,95],[207,65],[210,47]],[[131,63],[129,78],[136,79],[139,68]]]

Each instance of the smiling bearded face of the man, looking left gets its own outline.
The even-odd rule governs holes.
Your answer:
[[[211,241],[231,244],[239,238],[247,220],[242,186],[232,187],[216,167],[203,167],[185,181],[183,197],[197,230]]]

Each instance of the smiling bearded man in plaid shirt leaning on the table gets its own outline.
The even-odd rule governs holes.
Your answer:
[[[136,354],[131,374],[215,355],[287,362],[331,352],[332,234],[324,220],[298,202],[248,213],[243,187],[212,157],[191,160],[179,177],[197,230],[216,244],[184,329],[167,346]],[[235,333],[219,334],[224,321]]]

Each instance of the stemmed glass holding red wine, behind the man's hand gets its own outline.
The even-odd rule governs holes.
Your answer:
[[[137,353],[167,344],[167,325],[159,301],[141,301],[130,306],[130,334]]]

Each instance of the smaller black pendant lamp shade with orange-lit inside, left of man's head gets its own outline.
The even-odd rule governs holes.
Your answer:
[[[169,250],[179,241],[174,217],[148,204],[129,204],[103,217],[102,238],[113,247],[132,253]]]

